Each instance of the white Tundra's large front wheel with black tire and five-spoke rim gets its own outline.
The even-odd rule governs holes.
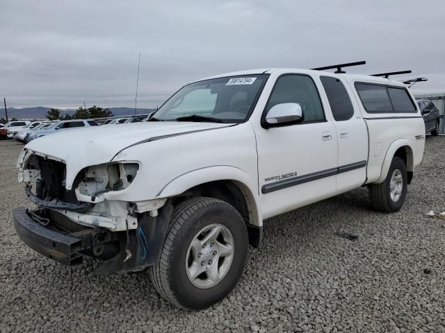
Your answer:
[[[149,267],[149,277],[156,291],[173,305],[190,310],[204,309],[225,298],[241,278],[247,257],[248,232],[241,214],[225,201],[193,198],[175,208],[168,228],[159,262]],[[207,234],[202,232],[207,230],[206,228],[210,228]],[[207,244],[204,248],[206,237],[209,238],[215,228],[221,230],[220,236],[215,243]],[[232,246],[230,246],[230,236],[232,236]],[[197,237],[203,238],[197,239]],[[225,243],[226,238],[229,239],[228,243]],[[200,243],[195,243],[197,241]],[[211,268],[197,275],[197,278],[189,278],[192,266],[202,269],[199,266],[203,263],[202,259],[196,259],[198,255],[195,255],[193,250],[196,247],[192,244],[200,244],[197,247],[200,249],[198,255],[200,258],[205,257],[206,265],[212,258],[214,259],[211,268],[213,272],[214,269],[218,272],[215,280],[220,279],[216,284],[213,285],[208,275]],[[213,246],[213,250],[210,250],[209,246]],[[223,256],[224,246],[233,249],[231,257]],[[206,249],[207,253],[204,252]],[[215,255],[215,249],[220,252],[216,257],[209,257]],[[215,268],[216,265],[218,268]],[[203,287],[207,282],[208,284]]]

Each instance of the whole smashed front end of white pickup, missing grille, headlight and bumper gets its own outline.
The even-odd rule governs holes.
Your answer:
[[[38,253],[69,266],[81,264],[84,255],[102,259],[98,274],[139,271],[159,259],[172,205],[165,199],[122,200],[138,162],[84,168],[68,186],[63,160],[25,149],[17,167],[38,209],[17,208],[15,229]]]

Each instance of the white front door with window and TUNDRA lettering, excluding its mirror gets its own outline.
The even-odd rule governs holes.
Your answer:
[[[263,117],[281,103],[298,103],[303,120],[260,128],[256,133],[265,219],[336,193],[337,131],[325,115],[312,77],[285,74],[277,78]]]

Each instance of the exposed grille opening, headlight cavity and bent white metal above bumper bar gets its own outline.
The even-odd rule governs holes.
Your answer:
[[[38,153],[27,152],[19,165],[19,181],[26,184],[26,195],[42,208],[56,210],[68,219],[89,227],[111,231],[138,228],[137,214],[156,216],[164,199],[127,202],[113,200],[109,194],[122,191],[136,178],[139,164],[113,162],[82,169],[71,189],[66,188],[66,166]],[[22,178],[22,179],[20,179]]]

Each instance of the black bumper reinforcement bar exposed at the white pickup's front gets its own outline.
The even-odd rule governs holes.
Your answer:
[[[13,214],[15,231],[24,244],[60,264],[77,266],[82,263],[83,256],[79,253],[83,250],[81,239],[34,222],[24,207],[16,208]]]

